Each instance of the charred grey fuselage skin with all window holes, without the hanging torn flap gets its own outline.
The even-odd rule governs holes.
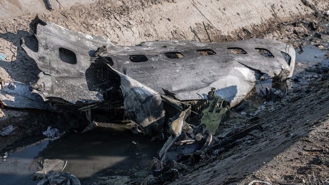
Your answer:
[[[126,47],[51,23],[39,25],[37,30],[39,51],[23,45],[43,71],[34,87],[44,98],[61,97],[72,103],[102,100],[98,89],[101,84],[90,88],[87,84],[92,84],[94,77],[86,73],[91,64],[87,53],[101,45],[107,45],[107,51],[99,54],[109,59],[114,69],[159,93],[166,89],[182,101],[206,99],[210,87],[215,87],[215,95],[234,106],[251,91],[262,73],[282,81],[291,77],[295,65],[292,46],[267,39],[230,43],[159,41]],[[244,53],[232,53],[229,48],[240,48]],[[271,57],[260,54],[260,48],[269,51]],[[290,63],[282,52],[290,56]],[[61,53],[68,56],[63,59]],[[111,83],[108,79],[107,84]]]

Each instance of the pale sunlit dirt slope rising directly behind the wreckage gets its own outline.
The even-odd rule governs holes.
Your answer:
[[[208,41],[203,23],[212,41],[235,39],[249,34],[243,28],[261,31],[321,13],[328,5],[327,1],[99,1],[41,17],[71,30],[107,36],[115,44],[134,45],[154,40]]]

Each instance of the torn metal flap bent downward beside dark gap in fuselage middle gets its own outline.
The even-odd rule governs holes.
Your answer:
[[[89,89],[103,92],[104,101],[109,103],[123,100],[126,117],[141,125],[147,133],[160,132],[165,119],[160,94],[113,69],[107,62],[105,58],[96,57],[90,65],[86,72]]]

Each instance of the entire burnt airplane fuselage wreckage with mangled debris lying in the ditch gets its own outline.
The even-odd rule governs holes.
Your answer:
[[[167,139],[158,152],[165,163],[209,147],[229,108],[257,80],[267,74],[285,81],[295,66],[293,46],[267,39],[115,46],[107,38],[38,18],[31,25],[38,49],[24,39],[21,46],[41,70],[39,79],[4,83],[3,106],[53,112],[64,112],[64,105],[81,112],[121,109],[139,131]]]

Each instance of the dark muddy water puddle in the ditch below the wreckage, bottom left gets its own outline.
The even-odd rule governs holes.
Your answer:
[[[37,184],[30,180],[42,159],[67,161],[64,172],[76,175],[81,182],[116,172],[130,175],[132,169],[149,167],[163,143],[150,137],[134,135],[124,125],[94,128],[80,134],[67,134],[58,140],[44,139],[19,152],[9,153],[0,162],[0,184]]]

